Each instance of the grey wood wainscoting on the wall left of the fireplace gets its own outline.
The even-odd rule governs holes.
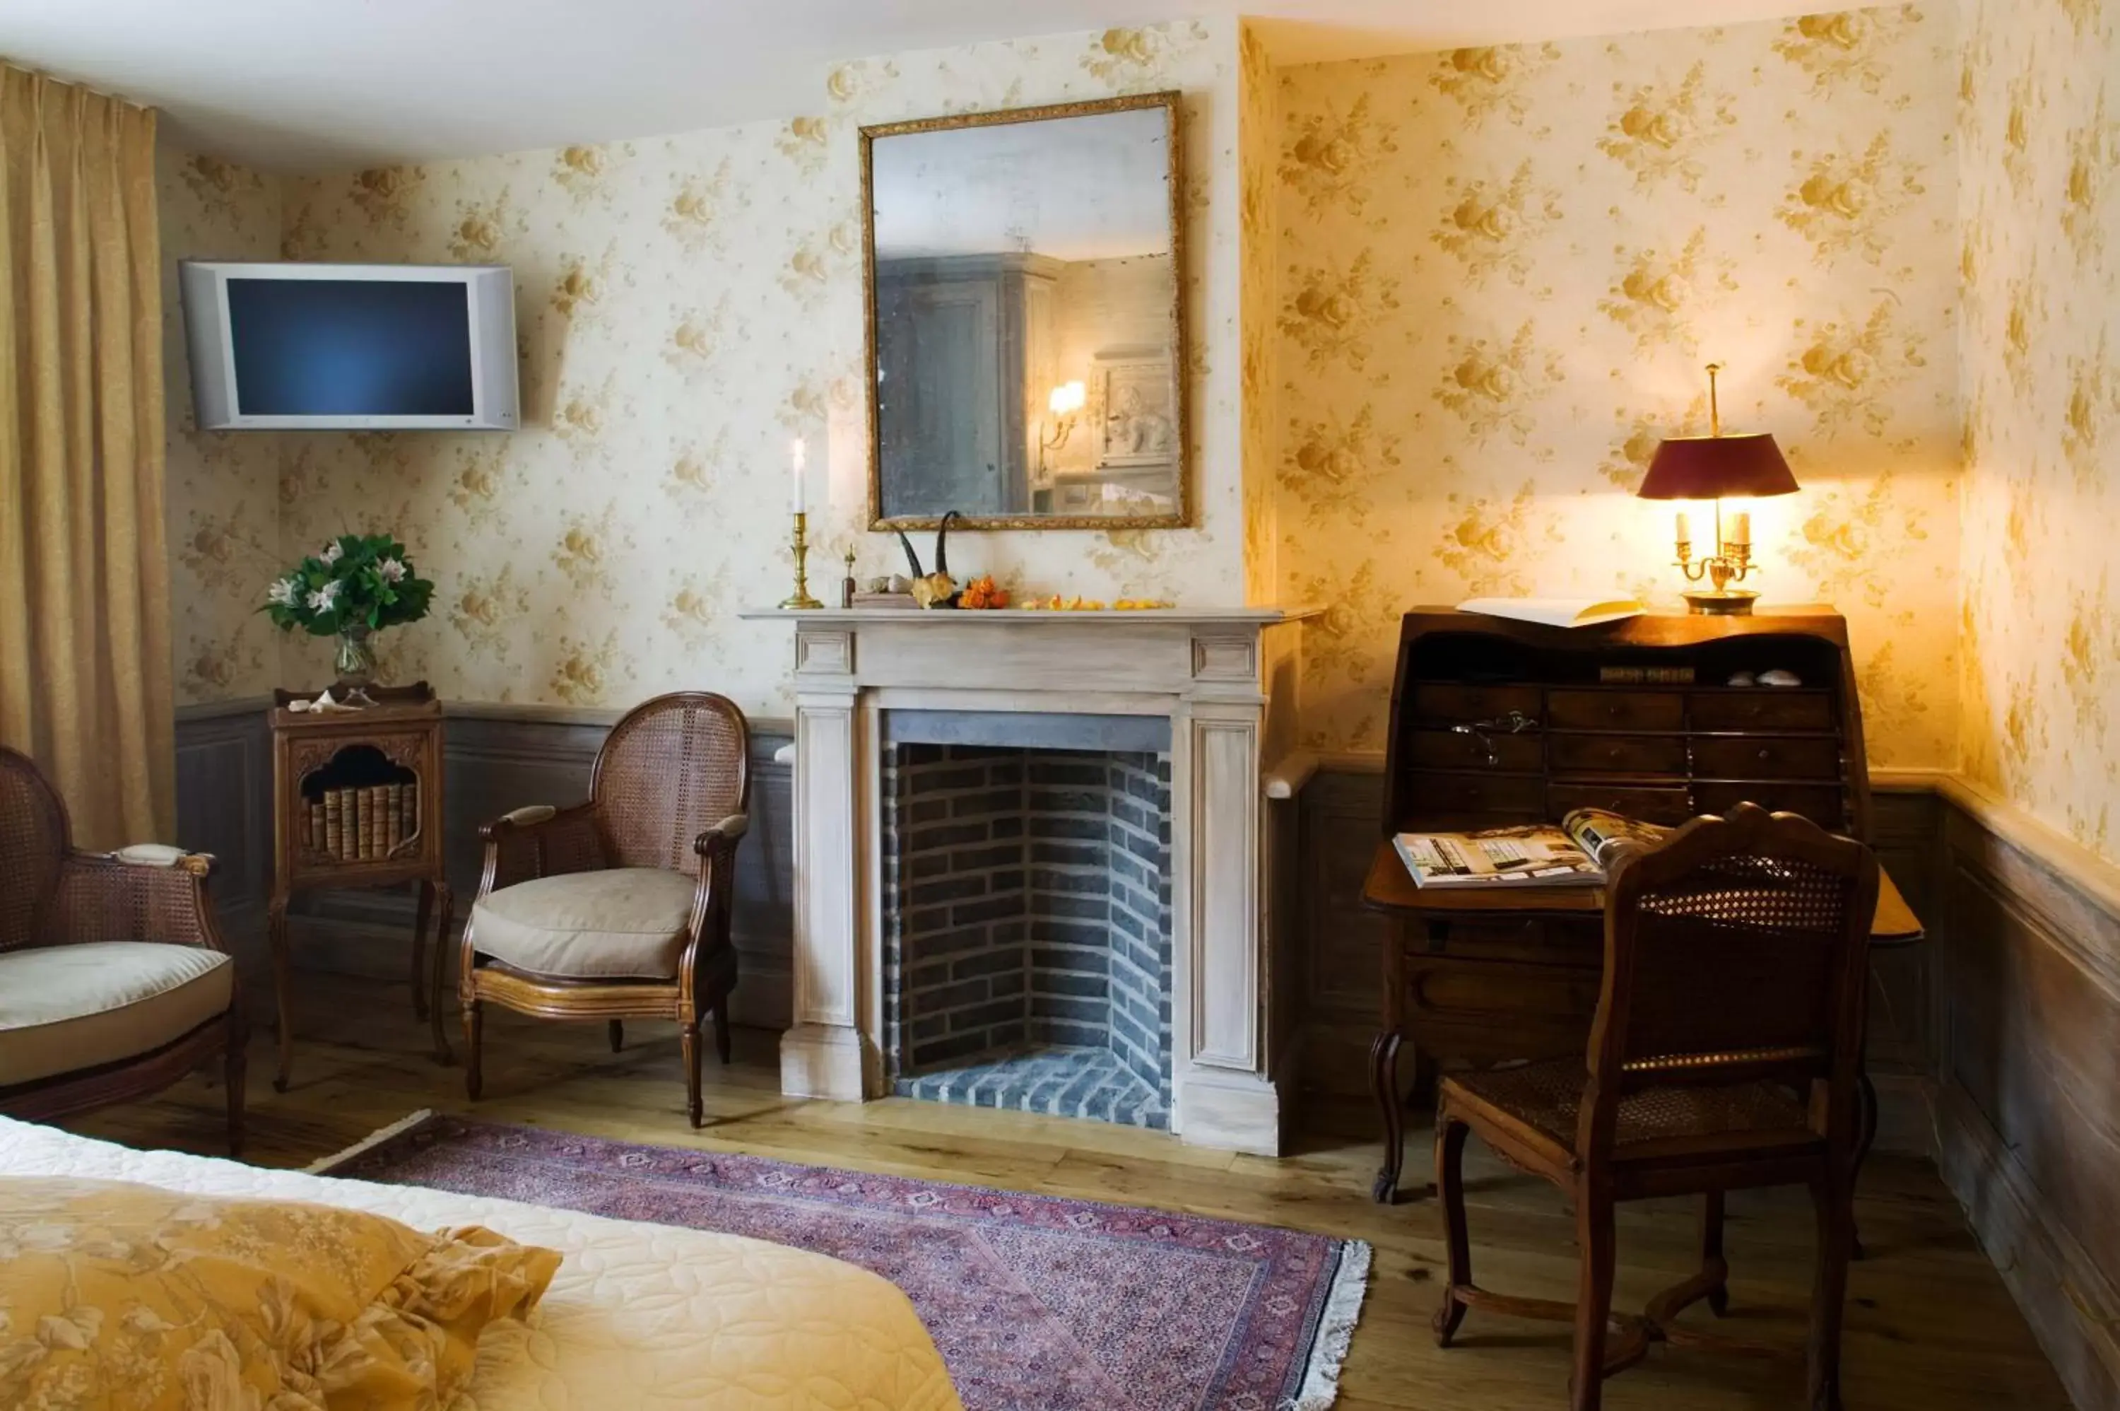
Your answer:
[[[176,721],[176,832],[214,853],[214,904],[242,961],[252,1004],[269,1008],[265,902],[271,893],[271,736],[263,698],[184,707]],[[524,804],[570,804],[589,796],[596,749],[623,711],[447,702],[443,813],[449,887],[462,925],[479,887],[479,823]],[[789,743],[784,719],[750,721],[750,834],[738,849],[736,948],[742,978],[731,995],[740,1025],[784,1029],[791,1012]],[[399,978],[411,946],[409,887],[318,891],[295,900],[295,965]],[[329,921],[329,925],[303,925]],[[312,980],[314,982],[314,980]]]

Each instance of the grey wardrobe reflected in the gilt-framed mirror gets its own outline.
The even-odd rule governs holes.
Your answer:
[[[1056,276],[1058,261],[1043,255],[876,261],[886,505],[1030,511],[1028,390],[1052,382]]]

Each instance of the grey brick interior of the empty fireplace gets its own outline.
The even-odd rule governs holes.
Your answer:
[[[1168,753],[886,732],[882,774],[893,1091],[1168,1127]]]

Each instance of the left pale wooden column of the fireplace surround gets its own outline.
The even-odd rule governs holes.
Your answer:
[[[795,1025],[780,1091],[861,1101],[873,1055],[861,1035],[861,711],[854,634],[795,634]]]

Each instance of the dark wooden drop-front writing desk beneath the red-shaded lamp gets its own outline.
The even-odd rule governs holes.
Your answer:
[[[1677,679],[1688,668],[1692,679]],[[1762,670],[1802,685],[1728,685]],[[1586,806],[1681,823],[1751,800],[1870,840],[1861,707],[1847,622],[1830,609],[1594,628],[1416,609],[1399,632],[1384,770],[1382,840],[1363,887],[1363,904],[1393,919],[1370,1050],[1384,1114],[1378,1201],[1397,1192],[1403,1156],[1401,1044],[1423,1067],[1582,1055],[1605,955],[1601,887],[1423,891],[1393,834],[1543,823]],[[1883,878],[1872,944],[1919,936]]]

